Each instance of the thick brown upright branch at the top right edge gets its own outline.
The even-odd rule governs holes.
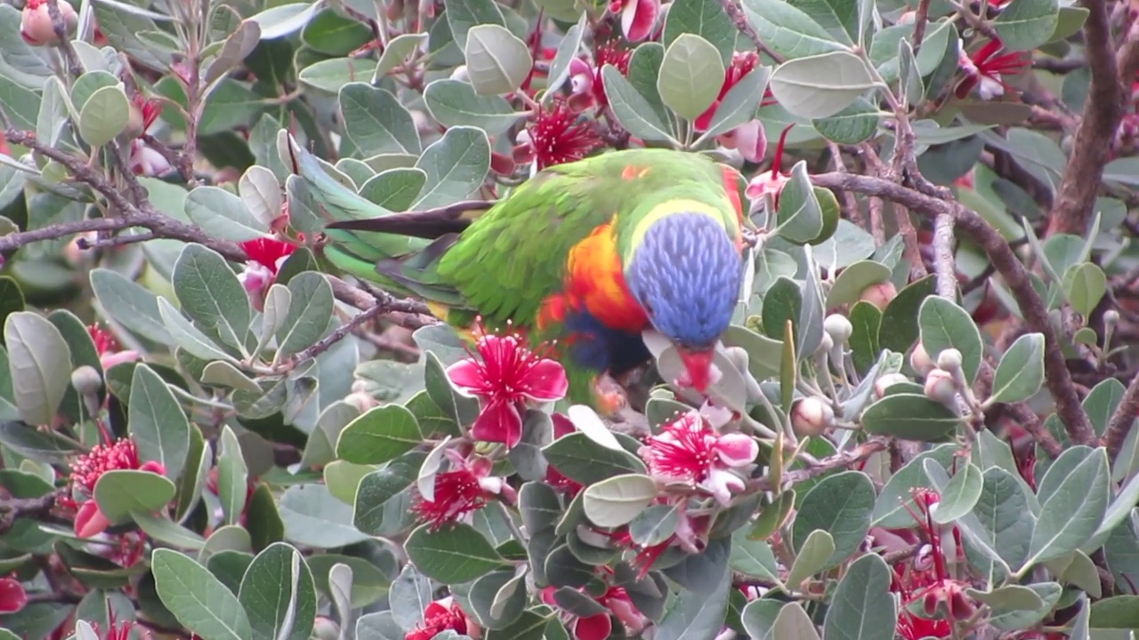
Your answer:
[[[1131,87],[1134,71],[1121,79],[1121,66],[1132,68],[1134,34],[1129,34],[1116,60],[1115,40],[1112,38],[1107,0],[1082,0],[1090,13],[1083,24],[1091,87],[1083,104],[1083,116],[1072,142],[1072,157],[1064,167],[1059,191],[1049,212],[1048,235],[1088,231],[1096,196],[1099,194],[1104,165],[1111,158],[1112,141],[1123,118],[1123,87]],[[1123,63],[1122,65],[1120,63]]]

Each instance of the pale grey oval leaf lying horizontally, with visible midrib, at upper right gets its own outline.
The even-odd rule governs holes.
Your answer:
[[[849,51],[795,58],[771,73],[771,95],[792,114],[809,118],[836,115],[874,87],[866,63]]]

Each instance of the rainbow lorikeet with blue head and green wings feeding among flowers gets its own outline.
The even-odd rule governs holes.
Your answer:
[[[338,269],[425,298],[462,333],[508,320],[557,339],[568,399],[601,409],[603,372],[652,356],[642,331],[674,344],[705,391],[743,282],[744,188],[734,169],[669,149],[613,151],[546,169],[483,211],[391,213],[297,151],[301,187],[335,222]],[[487,208],[489,207],[489,208]]]

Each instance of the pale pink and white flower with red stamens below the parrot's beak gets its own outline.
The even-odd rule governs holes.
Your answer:
[[[688,483],[711,493],[723,506],[744,490],[745,469],[760,453],[744,434],[719,434],[698,411],[680,415],[649,436],[640,449],[649,473],[666,483]]]

